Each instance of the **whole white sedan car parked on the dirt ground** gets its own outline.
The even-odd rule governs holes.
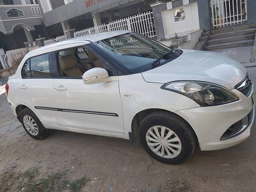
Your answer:
[[[6,84],[34,139],[50,129],[124,138],[168,164],[250,136],[246,69],[213,52],[173,50],[130,31],[92,34],[29,52]]]

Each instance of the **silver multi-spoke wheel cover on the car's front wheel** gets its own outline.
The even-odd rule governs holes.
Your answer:
[[[146,142],[149,148],[162,158],[175,158],[182,148],[178,135],[165,126],[149,128],[146,132]]]

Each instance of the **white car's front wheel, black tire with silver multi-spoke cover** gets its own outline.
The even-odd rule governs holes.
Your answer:
[[[190,125],[169,112],[147,115],[140,123],[139,137],[146,152],[166,164],[185,162],[196,148],[196,135]]]

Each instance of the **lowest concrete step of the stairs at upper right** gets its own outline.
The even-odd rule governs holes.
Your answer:
[[[253,46],[253,43],[254,43],[254,40],[244,40],[244,41],[221,43],[221,44],[216,44],[216,45],[208,45],[205,47],[205,50],[211,51],[211,50],[217,50],[217,49]]]

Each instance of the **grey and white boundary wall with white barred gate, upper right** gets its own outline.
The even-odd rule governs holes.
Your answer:
[[[173,37],[175,33],[256,24],[255,0],[172,0],[152,4],[158,39]],[[182,12],[177,20],[177,12]]]

